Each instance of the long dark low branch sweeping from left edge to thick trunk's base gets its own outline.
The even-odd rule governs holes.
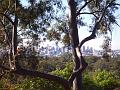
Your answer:
[[[42,73],[39,71],[32,71],[32,70],[23,69],[20,66],[17,66],[17,67],[19,67],[19,68],[17,68],[16,70],[10,71],[10,72],[16,73],[19,75],[28,75],[28,76],[34,76],[34,77],[48,79],[51,81],[56,81],[59,84],[61,84],[65,90],[70,90],[69,82],[67,80],[63,79],[62,77],[58,77],[58,76],[47,74],[47,73]],[[6,67],[1,66],[1,65],[0,65],[0,68],[2,68],[4,70],[10,70],[9,68],[6,68]]]

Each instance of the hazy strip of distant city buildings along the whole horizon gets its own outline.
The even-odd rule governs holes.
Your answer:
[[[6,49],[0,49],[0,56],[3,56],[5,53],[7,53],[8,50]],[[46,46],[30,46],[30,47],[24,47],[23,51],[26,55],[31,55],[35,53],[37,56],[59,56],[63,55],[64,53],[71,53],[72,49],[71,47],[60,47],[57,45],[46,45]],[[103,50],[95,50],[93,47],[89,46],[83,46],[82,49],[82,55],[83,56],[103,56]],[[110,52],[112,57],[118,57],[120,56],[120,50],[111,50]]]

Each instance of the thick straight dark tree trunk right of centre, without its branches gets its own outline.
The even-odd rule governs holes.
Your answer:
[[[80,67],[80,60],[76,53],[76,48],[79,45],[79,36],[78,36],[78,28],[77,28],[77,22],[76,22],[76,3],[74,0],[68,1],[69,5],[69,30],[70,30],[70,39],[72,44],[72,51],[74,56],[74,70],[76,71]],[[81,72],[77,73],[75,75],[75,78],[73,80],[73,90],[81,90],[82,89],[82,74]]]

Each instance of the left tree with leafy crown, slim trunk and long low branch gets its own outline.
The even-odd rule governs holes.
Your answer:
[[[20,0],[1,0],[0,1],[0,29],[6,38],[6,43],[10,48],[10,68],[0,66],[10,70],[11,73],[29,75],[57,81],[64,88],[69,88],[67,80],[63,78],[31,71],[21,68],[17,58],[17,32],[18,30],[28,30],[28,34],[44,33],[53,19],[57,19],[57,8],[61,8],[60,0],[28,0],[28,5],[24,7]],[[32,30],[32,31],[31,31]],[[34,36],[34,35],[33,35]]]

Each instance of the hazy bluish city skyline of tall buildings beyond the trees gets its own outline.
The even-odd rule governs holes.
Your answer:
[[[59,56],[64,53],[71,53],[71,47],[59,47],[57,46],[49,46],[46,47],[39,47],[37,48],[37,54],[39,56]],[[98,56],[101,57],[103,55],[103,50],[95,50],[93,47],[83,46],[82,49],[83,56]],[[118,56],[120,55],[120,50],[111,50],[111,56]]]

